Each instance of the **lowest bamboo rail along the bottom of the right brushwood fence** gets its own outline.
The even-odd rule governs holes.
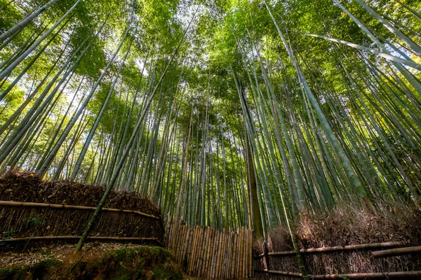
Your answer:
[[[296,272],[278,272],[274,270],[255,270],[255,272],[301,277],[301,273]],[[310,279],[420,279],[420,277],[421,271],[309,275]]]

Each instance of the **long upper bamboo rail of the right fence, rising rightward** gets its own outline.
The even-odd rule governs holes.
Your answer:
[[[327,252],[336,252],[336,251],[388,248],[388,247],[405,246],[408,244],[409,244],[409,241],[382,242],[382,243],[356,244],[356,245],[347,245],[347,246],[308,248],[308,249],[301,249],[300,252],[301,253],[327,253]],[[295,255],[295,251],[269,252],[269,255]],[[264,253],[256,256],[255,258],[261,258],[263,256],[265,256]]]

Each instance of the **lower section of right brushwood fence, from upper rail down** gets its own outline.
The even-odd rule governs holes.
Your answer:
[[[301,249],[300,252],[310,279],[421,279],[420,258],[415,256],[421,253],[421,246],[394,248],[408,244],[409,241],[354,244]],[[379,248],[389,249],[373,251]],[[264,242],[262,252],[253,256],[257,276],[286,280],[302,277],[294,251],[269,252]],[[397,255],[399,258],[390,258]]]

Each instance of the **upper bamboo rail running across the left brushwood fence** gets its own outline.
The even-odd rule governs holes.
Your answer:
[[[0,201],[0,206],[10,206],[10,207],[44,207],[44,208],[55,208],[55,209],[74,209],[74,210],[96,210],[96,207],[87,207],[87,206],[76,206],[76,205],[64,205],[64,204],[47,204],[47,203],[37,203],[37,202],[11,202],[11,201]],[[123,213],[133,213],[140,216],[145,216],[148,218],[156,218],[154,215],[142,213],[140,211],[134,210],[123,210],[123,209],[114,209],[114,208],[102,208],[102,211],[110,212],[123,212]]]

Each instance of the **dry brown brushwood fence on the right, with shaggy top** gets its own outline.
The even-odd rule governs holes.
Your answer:
[[[300,223],[295,225],[295,233],[301,249],[385,242],[401,242],[399,246],[403,247],[419,246],[421,211],[415,206],[401,204],[381,204],[375,211],[341,206],[324,217],[302,214]],[[255,248],[263,253],[261,245],[262,241],[255,244]],[[293,251],[287,230],[278,228],[270,232],[268,249],[272,252],[269,253],[270,270],[300,272],[295,255],[273,254]],[[382,246],[377,246],[319,253],[304,252],[302,255],[307,271],[312,275],[421,271],[421,255],[374,258],[371,254],[371,251],[382,249]],[[264,258],[254,259],[255,269],[267,268],[263,260]],[[296,276],[267,273],[258,273],[257,276],[265,279],[298,279]],[[387,276],[380,279],[387,279]],[[399,279],[406,278],[403,276]]]

